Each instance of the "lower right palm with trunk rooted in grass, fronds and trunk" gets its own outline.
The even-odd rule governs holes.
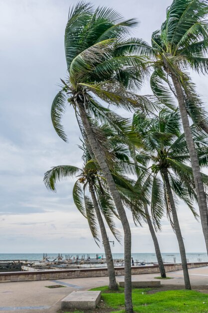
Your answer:
[[[179,111],[170,112],[164,108],[159,116],[153,118],[147,118],[138,112],[134,116],[133,123],[143,136],[144,144],[144,149],[137,154],[136,159],[145,166],[150,165],[148,171],[141,174],[136,186],[141,188],[142,183],[144,192],[149,193],[147,196],[151,199],[152,215],[157,226],[160,226],[159,219],[163,215],[165,204],[179,243],[185,287],[191,289],[186,251],[174,197],[178,196],[184,200],[197,216],[193,206],[196,193],[193,170],[187,165],[190,156],[185,134],[180,133]],[[192,135],[195,138],[198,153],[204,155],[208,145],[207,136],[203,132],[196,131],[195,128],[192,128]],[[208,176],[205,174],[202,176],[207,183]]]

